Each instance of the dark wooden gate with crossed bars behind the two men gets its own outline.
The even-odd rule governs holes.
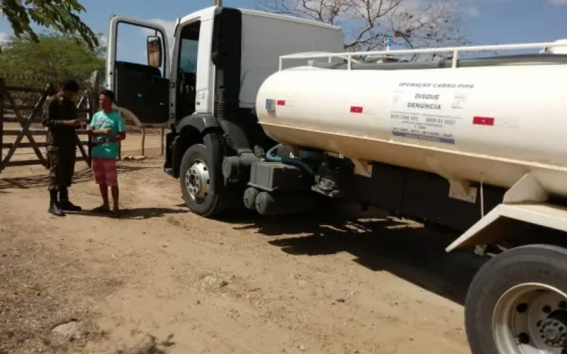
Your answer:
[[[15,98],[18,93],[26,93],[28,98],[30,93],[35,93],[39,98],[35,105],[30,105],[25,102],[29,100],[18,102]],[[52,84],[48,84],[45,89],[11,86],[0,78],[0,172],[9,166],[42,165],[45,168],[49,167],[46,151],[47,129],[40,123],[43,105],[47,98],[55,93],[57,92]],[[88,89],[77,105],[79,119],[89,122],[97,103],[94,102],[91,89]],[[39,127],[34,127],[34,125],[39,125]],[[76,139],[80,154],[77,160],[86,161],[86,164],[90,166],[91,139],[87,130],[77,130]],[[25,152],[25,149],[28,149],[28,152]],[[30,149],[33,152],[30,152]],[[7,150],[6,154],[4,150]],[[35,158],[30,159],[30,154],[35,154]],[[23,157],[23,159],[15,159],[17,157]]]

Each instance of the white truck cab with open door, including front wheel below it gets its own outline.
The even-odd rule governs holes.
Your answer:
[[[119,24],[154,32],[147,64],[117,60]],[[276,145],[258,124],[255,102],[279,57],[342,52],[344,43],[334,25],[222,6],[178,19],[171,55],[158,23],[112,16],[108,33],[106,87],[138,126],[169,128],[164,171],[179,178],[187,206],[203,216],[242,205],[251,164]]]

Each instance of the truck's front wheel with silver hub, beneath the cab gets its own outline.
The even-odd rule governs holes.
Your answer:
[[[179,182],[185,204],[191,212],[203,217],[223,210],[222,159],[218,135],[208,134],[205,144],[194,144],[183,155]]]

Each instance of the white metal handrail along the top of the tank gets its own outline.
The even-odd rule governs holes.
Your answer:
[[[340,52],[340,53],[325,53],[325,54],[288,54],[279,57],[279,70],[281,70],[283,59],[313,59],[313,58],[329,58],[333,57],[347,57],[347,69],[352,69],[352,57],[366,56],[366,55],[400,55],[400,54],[433,54],[453,52],[451,67],[456,68],[459,61],[459,52],[481,52],[484,50],[524,50],[524,49],[538,49],[544,47],[567,47],[567,42],[541,42],[541,43],[524,43],[524,44],[509,44],[509,45],[471,45],[461,47],[438,47],[438,48],[422,48],[422,49],[408,49],[408,50],[378,50],[374,52]]]

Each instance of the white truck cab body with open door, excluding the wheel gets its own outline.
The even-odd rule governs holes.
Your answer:
[[[155,30],[148,64],[116,59],[118,25]],[[279,56],[342,51],[339,27],[261,11],[211,6],[177,19],[172,52],[162,25],[113,16],[106,86],[120,110],[141,127],[172,127],[193,114],[253,110],[259,86]]]

